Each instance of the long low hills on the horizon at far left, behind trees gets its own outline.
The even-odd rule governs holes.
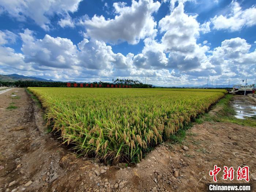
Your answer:
[[[0,81],[18,81],[18,80],[28,80],[28,81],[46,81],[46,82],[55,82],[54,80],[50,79],[43,79],[38,77],[28,77],[24,75],[18,74],[10,74],[10,75],[0,75]]]

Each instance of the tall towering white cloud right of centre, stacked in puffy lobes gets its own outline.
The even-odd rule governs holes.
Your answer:
[[[196,16],[184,12],[184,4],[176,8],[159,21],[160,32],[164,33],[161,44],[163,50],[169,53],[169,68],[182,71],[199,68],[207,57],[208,46],[196,43],[200,32],[200,23]]]

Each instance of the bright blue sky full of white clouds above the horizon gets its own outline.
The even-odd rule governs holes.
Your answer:
[[[0,74],[255,82],[255,1],[0,0]]]

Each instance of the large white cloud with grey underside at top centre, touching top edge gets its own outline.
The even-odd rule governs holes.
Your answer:
[[[112,44],[127,41],[137,44],[140,39],[154,37],[157,33],[152,14],[158,10],[160,3],[153,0],[133,0],[131,7],[124,3],[114,3],[117,14],[114,19],[105,19],[104,16],[94,15],[89,19],[85,16],[80,25],[86,27],[88,37],[103,40]]]

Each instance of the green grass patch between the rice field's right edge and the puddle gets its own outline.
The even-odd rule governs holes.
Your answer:
[[[245,119],[238,119],[234,117],[236,114],[233,107],[230,105],[230,101],[233,99],[234,95],[228,94],[225,95],[215,106],[220,107],[221,109],[217,112],[216,115],[206,113],[200,115],[195,122],[198,124],[203,123],[203,121],[216,121],[223,123],[235,123],[238,125],[256,127],[256,117],[247,117]]]

